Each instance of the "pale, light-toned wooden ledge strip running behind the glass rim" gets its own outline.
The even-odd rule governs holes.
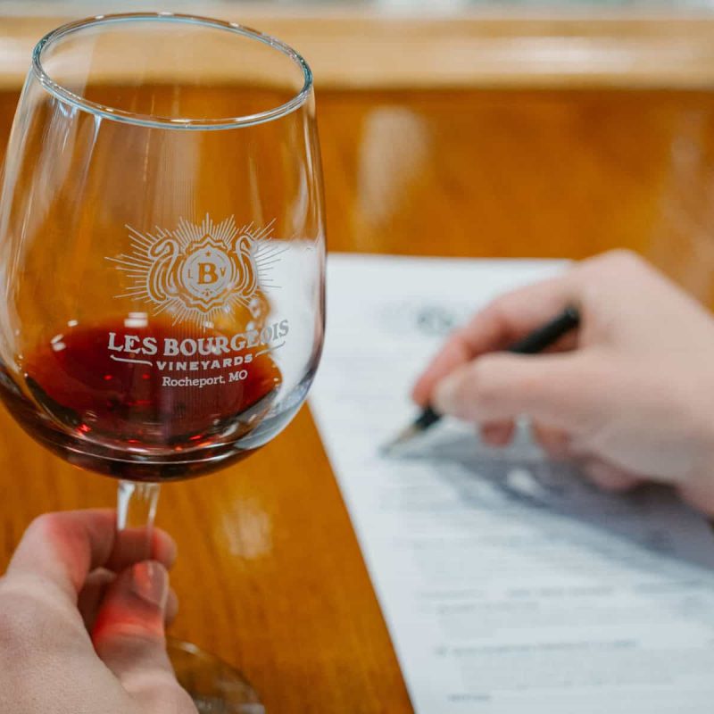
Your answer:
[[[70,16],[2,14],[0,87],[20,87],[32,47]],[[262,29],[295,46],[320,88],[706,87],[714,80],[714,12],[462,12],[446,16],[202,12]],[[205,58],[220,79],[220,62]],[[229,80],[229,76],[225,75]]]

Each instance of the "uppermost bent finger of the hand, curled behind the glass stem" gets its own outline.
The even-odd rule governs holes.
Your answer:
[[[87,575],[97,568],[119,570],[128,566],[130,550],[124,537],[117,534],[114,511],[46,513],[35,519],[22,536],[5,582],[39,579],[44,585],[54,585],[76,604]],[[152,552],[170,565],[176,552],[170,535],[155,530]]]

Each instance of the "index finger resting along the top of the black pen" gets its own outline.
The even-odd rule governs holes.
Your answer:
[[[426,405],[436,384],[453,369],[480,354],[506,349],[520,337],[552,320],[567,304],[575,302],[575,285],[569,273],[565,273],[502,295],[488,304],[457,330],[436,354],[412,390],[414,401]]]

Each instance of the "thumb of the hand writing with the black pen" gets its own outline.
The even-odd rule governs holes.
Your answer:
[[[599,423],[608,397],[603,361],[581,352],[485,354],[437,386],[436,411],[483,423],[527,415],[569,433]]]

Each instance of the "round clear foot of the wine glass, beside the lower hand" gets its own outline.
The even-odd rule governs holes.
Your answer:
[[[253,687],[226,662],[172,637],[167,649],[176,678],[199,714],[265,714]]]

